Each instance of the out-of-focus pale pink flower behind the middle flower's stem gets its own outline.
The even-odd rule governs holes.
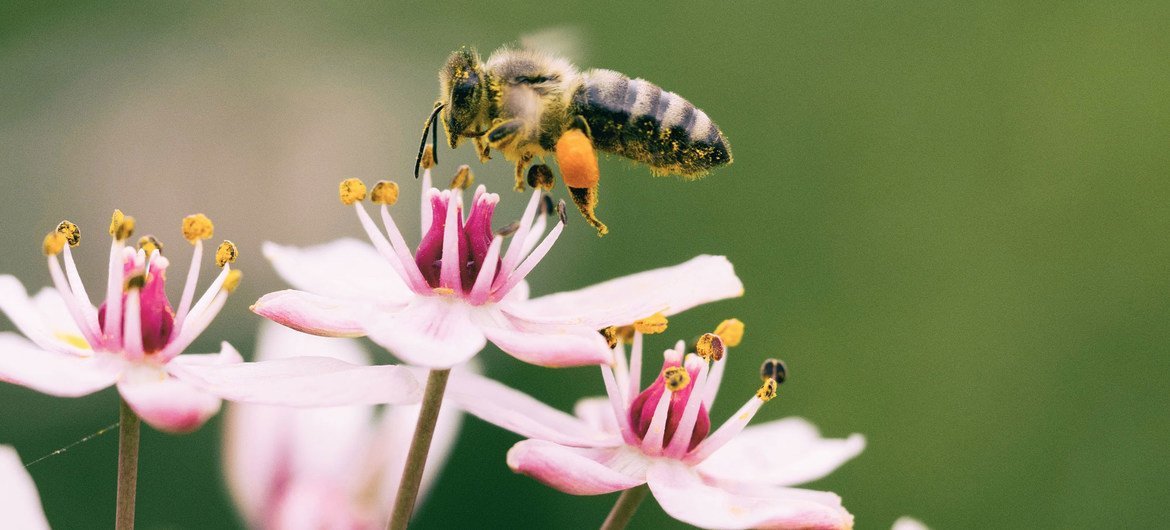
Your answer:
[[[356,340],[321,338],[266,324],[257,359],[326,356],[366,365]],[[232,498],[249,528],[266,530],[386,528],[419,406],[297,409],[234,404],[227,411],[223,466]],[[459,432],[457,409],[439,414],[428,483],[442,468]]]

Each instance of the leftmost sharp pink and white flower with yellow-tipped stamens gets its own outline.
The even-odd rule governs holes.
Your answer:
[[[0,311],[23,333],[0,332],[0,380],[57,397],[81,397],[117,385],[122,398],[160,431],[199,428],[221,398],[292,406],[414,402],[417,379],[397,366],[366,367],[329,358],[242,363],[228,343],[219,353],[180,355],[211,324],[240,281],[236,248],[225,241],[215,260],[222,271],[195,300],[206,216],[184,220],[194,246],[178,310],[166,295],[170,261],[151,236],[126,246],[133,218],[116,211],[110,225],[109,281],[95,307],[70,247],[81,230],[62,221],[44,240],[54,288],[29,297],[13,276],[0,275]],[[63,255],[64,269],[62,270]]]

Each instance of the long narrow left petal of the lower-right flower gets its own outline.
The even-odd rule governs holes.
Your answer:
[[[577,447],[621,443],[614,434],[593,428],[521,391],[466,371],[452,373],[447,398],[472,415],[525,438]],[[610,415],[613,415],[612,409]]]

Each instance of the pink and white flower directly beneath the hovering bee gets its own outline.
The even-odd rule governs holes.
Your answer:
[[[529,300],[524,278],[564,229],[564,205],[544,234],[542,213],[551,208],[535,191],[504,250],[505,235],[491,228],[500,195],[480,186],[464,216],[461,191],[432,188],[429,170],[422,187],[422,238],[412,254],[390,214],[397,185],[381,181],[371,193],[381,205],[383,233],[362,205],[365,185],[342,183],[342,201],[355,207],[373,246],[349,239],[309,248],[266,245],[264,255],[298,290],[264,295],[253,310],[308,333],[369,336],[417,366],[455,366],[488,340],[526,363],[578,366],[613,360],[601,328],[743,294],[725,257],[698,256]]]

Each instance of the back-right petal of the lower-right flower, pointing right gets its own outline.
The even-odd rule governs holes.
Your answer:
[[[698,464],[704,476],[745,483],[794,486],[828,475],[861,453],[865,436],[825,439],[801,418],[753,425]]]

